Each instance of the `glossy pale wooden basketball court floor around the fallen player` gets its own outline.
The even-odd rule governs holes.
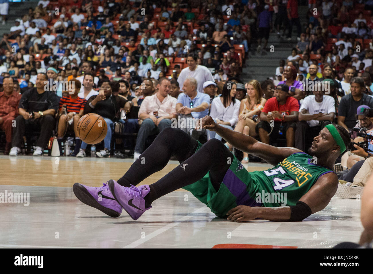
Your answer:
[[[134,221],[125,211],[110,218],[82,204],[72,192],[79,182],[101,186],[119,179],[131,159],[0,156],[0,195],[29,193],[29,205],[0,203],[0,248],[212,248],[247,244],[297,248],[331,248],[358,242],[360,201],[333,197],[322,211],[303,222],[255,220],[233,223],[216,217],[190,192],[179,190],[153,202]],[[170,161],[143,181],[151,184],[172,170]],[[244,164],[248,171],[269,164]]]

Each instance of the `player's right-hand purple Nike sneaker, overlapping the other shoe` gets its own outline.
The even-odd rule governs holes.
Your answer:
[[[131,187],[128,188],[119,185],[119,183],[114,180],[110,180],[108,185],[114,198],[132,219],[137,220],[146,210],[151,208],[145,208],[144,197],[150,191],[148,185],[142,185],[138,188],[131,185]]]

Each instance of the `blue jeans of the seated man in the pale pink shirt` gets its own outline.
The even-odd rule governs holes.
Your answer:
[[[127,121],[128,122],[128,121]],[[159,122],[158,127],[154,124],[153,120],[150,118],[145,119],[139,129],[139,132],[137,134],[136,139],[136,146],[135,146],[135,152],[142,153],[145,150],[145,141],[150,135],[150,133],[153,133],[154,131],[161,132],[162,129],[165,127],[171,126],[171,120],[170,119],[163,119]],[[154,132],[155,133],[155,132]]]

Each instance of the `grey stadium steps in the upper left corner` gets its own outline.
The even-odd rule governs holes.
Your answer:
[[[29,8],[35,8],[36,5],[37,1],[18,3],[9,2],[9,12],[7,15],[6,24],[2,25],[2,22],[0,23],[0,37],[3,37],[4,33],[9,33],[10,28],[14,26],[14,21],[18,18],[21,19],[23,15],[28,14]]]

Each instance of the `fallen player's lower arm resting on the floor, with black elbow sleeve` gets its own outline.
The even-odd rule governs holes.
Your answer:
[[[311,214],[323,210],[330,202],[338,188],[338,177],[335,173],[326,173],[321,176],[312,188],[299,200],[308,205]],[[256,218],[269,221],[302,221],[308,214],[303,213],[304,207],[294,209],[298,205],[285,207],[248,207],[239,205],[228,211],[228,220],[250,221]],[[304,215],[302,215],[304,214]]]

